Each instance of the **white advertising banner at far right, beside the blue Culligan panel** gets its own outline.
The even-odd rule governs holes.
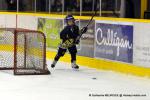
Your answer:
[[[136,23],[133,64],[150,68],[150,23]]]

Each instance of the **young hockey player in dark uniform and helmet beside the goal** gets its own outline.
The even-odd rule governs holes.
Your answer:
[[[60,32],[61,44],[59,45],[58,52],[54,58],[54,61],[51,64],[51,67],[54,68],[60,57],[63,57],[66,51],[68,50],[71,54],[71,66],[74,69],[79,69],[79,66],[76,64],[76,54],[77,48],[76,44],[79,44],[77,37],[80,34],[79,27],[75,24],[75,19],[72,15],[67,15],[65,18],[66,27]],[[82,33],[86,33],[87,27],[81,29]]]

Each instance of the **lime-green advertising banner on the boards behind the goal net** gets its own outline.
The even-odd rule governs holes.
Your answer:
[[[56,49],[60,43],[59,33],[63,29],[63,19],[38,18],[38,30],[46,34],[47,47]]]

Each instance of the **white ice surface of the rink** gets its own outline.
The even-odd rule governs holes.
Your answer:
[[[14,76],[0,71],[1,100],[150,100],[150,79],[111,71],[97,71],[59,62],[51,75]],[[93,96],[89,96],[89,95]],[[94,96],[144,94],[146,96]]]

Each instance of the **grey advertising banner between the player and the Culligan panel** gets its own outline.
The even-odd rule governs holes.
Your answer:
[[[85,27],[89,20],[80,20],[80,29]],[[78,55],[94,57],[94,33],[95,33],[95,21],[91,22],[88,26],[88,30],[83,34],[80,41],[80,49],[78,49]]]

